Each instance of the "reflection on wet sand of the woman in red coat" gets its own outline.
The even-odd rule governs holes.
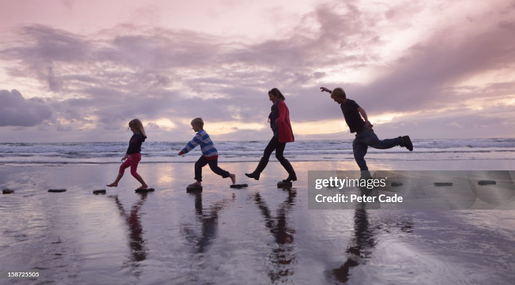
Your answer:
[[[277,247],[273,248],[270,254],[270,264],[268,276],[273,283],[288,281],[288,276],[294,274],[294,265],[296,263],[296,252],[294,244],[295,228],[288,220],[288,213],[294,205],[297,190],[287,189],[288,197],[279,205],[277,217],[272,217],[270,209],[266,205],[259,192],[254,194],[254,201],[261,210],[261,214],[265,219],[265,226],[270,233],[276,238]]]

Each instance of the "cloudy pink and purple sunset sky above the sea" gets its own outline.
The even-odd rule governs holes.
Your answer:
[[[0,142],[515,137],[515,1],[0,0]]]

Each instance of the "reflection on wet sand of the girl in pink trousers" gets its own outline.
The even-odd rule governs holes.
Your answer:
[[[147,250],[143,240],[143,227],[139,216],[139,211],[145,199],[147,199],[147,193],[142,193],[139,201],[136,201],[130,210],[129,215],[125,211],[124,205],[118,199],[118,195],[110,195],[109,198],[113,199],[120,216],[125,219],[125,222],[129,228],[129,246],[131,249],[131,261],[138,262],[143,261],[147,258]]]

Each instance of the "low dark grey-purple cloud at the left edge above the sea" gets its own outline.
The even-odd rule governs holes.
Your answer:
[[[33,127],[52,116],[52,109],[43,99],[25,99],[18,90],[0,90],[0,102],[0,127]]]

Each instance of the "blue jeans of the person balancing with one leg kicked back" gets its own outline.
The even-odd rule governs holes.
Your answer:
[[[367,163],[365,162],[365,154],[367,154],[368,147],[374,149],[391,149],[394,146],[404,146],[402,137],[380,140],[373,130],[365,128],[354,138],[352,142],[352,152],[354,153],[354,159],[356,159],[359,169],[368,170]]]

